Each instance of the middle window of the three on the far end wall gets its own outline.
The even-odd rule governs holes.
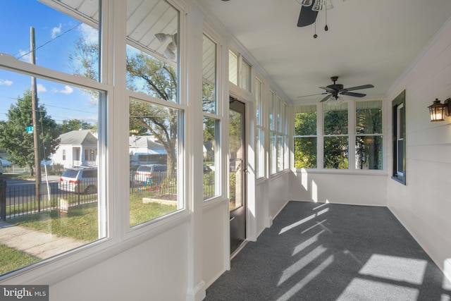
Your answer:
[[[349,168],[347,102],[323,104],[323,168]]]

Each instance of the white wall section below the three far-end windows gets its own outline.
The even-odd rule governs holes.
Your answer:
[[[291,178],[291,199],[336,204],[386,206],[386,176],[357,173],[297,172]]]

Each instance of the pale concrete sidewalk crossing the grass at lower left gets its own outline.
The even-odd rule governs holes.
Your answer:
[[[85,245],[87,242],[31,230],[11,223],[0,222],[0,245],[46,259],[68,250]]]

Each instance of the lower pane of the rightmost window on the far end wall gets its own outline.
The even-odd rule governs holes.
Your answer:
[[[383,136],[357,136],[356,168],[383,169]]]

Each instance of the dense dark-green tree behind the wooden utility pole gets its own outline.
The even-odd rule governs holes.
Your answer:
[[[9,159],[18,166],[30,166],[33,175],[35,165],[35,152],[33,135],[27,133],[27,127],[32,125],[32,96],[30,90],[26,90],[22,98],[17,99],[17,104],[12,104],[8,110],[8,121],[0,124],[0,149],[6,150]],[[44,106],[39,106],[37,112],[37,126],[39,133],[38,146],[40,154],[45,153],[42,159],[49,159],[58,148],[58,130],[56,122],[47,116]],[[41,158],[40,158],[41,159]]]

